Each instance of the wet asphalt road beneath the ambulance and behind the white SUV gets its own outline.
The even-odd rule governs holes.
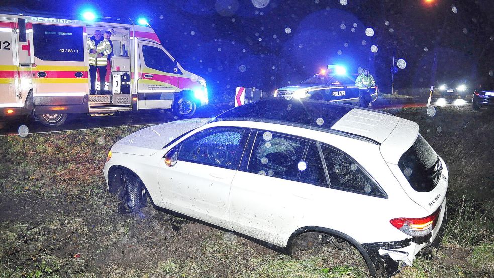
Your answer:
[[[425,107],[427,98],[401,98],[401,99],[377,99],[371,104],[372,109],[392,109],[406,107]],[[470,105],[471,101],[457,99],[455,101],[445,101],[444,99],[434,99],[433,106],[457,106]],[[221,112],[233,107],[233,104],[210,104],[197,110],[194,117],[215,117]],[[60,127],[45,127],[31,117],[22,117],[8,120],[0,119],[0,136],[17,135],[20,127],[25,125],[29,133],[45,133],[64,130],[94,129],[114,126],[135,126],[135,125],[153,125],[174,121],[176,118],[171,113],[160,112],[140,112],[140,113],[123,113],[120,116],[91,117],[85,114],[69,115],[67,121]],[[24,128],[24,127],[23,127]]]

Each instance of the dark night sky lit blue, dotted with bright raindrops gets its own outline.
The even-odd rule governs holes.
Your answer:
[[[217,100],[237,86],[272,92],[297,84],[328,64],[344,64],[350,73],[369,67],[381,91],[390,92],[394,50],[406,61],[395,74],[398,91],[494,75],[488,0],[4,0],[0,9],[7,6],[61,18],[79,17],[86,8],[107,17],[146,17],[164,47],[204,77]]]

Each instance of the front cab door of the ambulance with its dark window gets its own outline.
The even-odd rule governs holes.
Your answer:
[[[145,100],[145,107],[140,108],[170,108],[178,89],[176,63],[159,44],[139,41],[139,49],[138,93]]]

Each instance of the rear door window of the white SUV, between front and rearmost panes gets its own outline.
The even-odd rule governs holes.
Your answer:
[[[307,141],[299,138],[257,132],[247,171],[283,179],[296,180]]]

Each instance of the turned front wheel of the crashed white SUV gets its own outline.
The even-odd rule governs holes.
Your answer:
[[[147,204],[147,194],[141,180],[129,171],[123,171],[124,207],[128,212],[137,212]]]

